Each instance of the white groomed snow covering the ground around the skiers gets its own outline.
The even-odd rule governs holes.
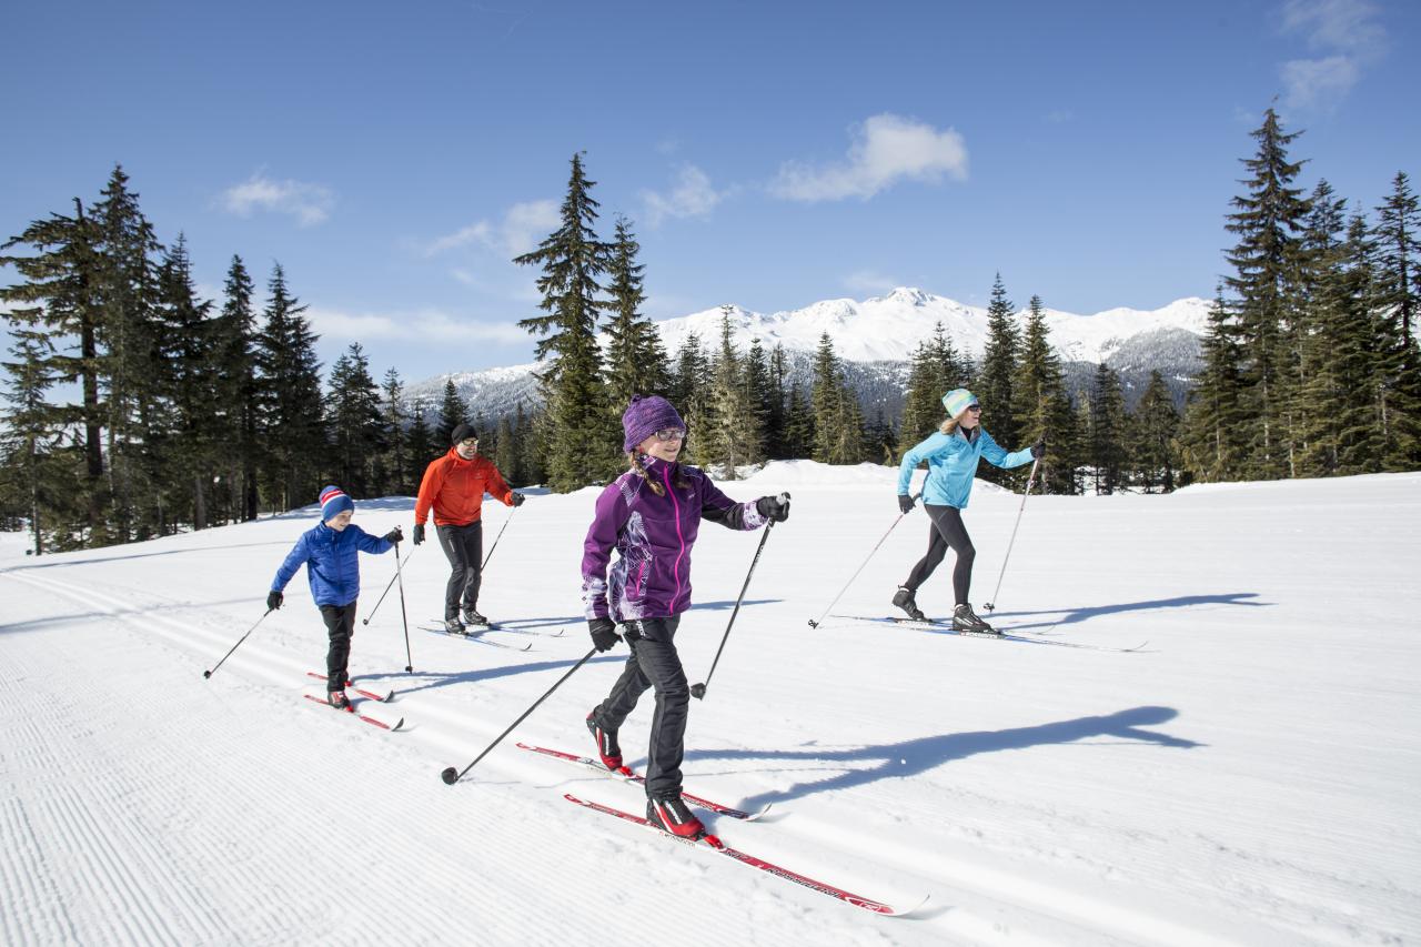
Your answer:
[[[486,505],[480,606],[519,653],[415,630],[433,545],[358,626],[352,670],[399,688],[387,734],[300,698],[325,641],[304,576],[261,616],[287,515],[33,559],[0,535],[0,941],[603,944],[1404,944],[1421,938],[1421,474],[1029,498],[995,620],[1043,647],[828,619],[894,526],[894,472],[772,464],[787,489],[705,701],[686,788],[742,808],[730,845],[921,910],[885,919],[568,805],[638,789],[536,758],[587,752],[625,650],[588,650],[577,565],[595,489]],[[978,483],[973,601],[1022,498]],[[371,532],[412,502],[357,505]],[[834,609],[887,614],[914,512]],[[678,644],[703,680],[755,535],[706,525]],[[486,539],[490,542],[490,539]],[[362,613],[394,574],[362,557]],[[952,604],[945,563],[919,593]],[[566,628],[561,637],[550,633]],[[651,697],[622,745],[644,765]]]

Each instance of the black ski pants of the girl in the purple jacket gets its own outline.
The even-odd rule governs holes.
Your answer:
[[[603,729],[617,732],[648,687],[657,690],[657,712],[651,718],[651,748],[647,751],[647,798],[681,795],[681,759],[685,756],[686,717],[691,687],[672,638],[681,616],[642,619],[622,624],[631,657],[607,700],[593,711]]]

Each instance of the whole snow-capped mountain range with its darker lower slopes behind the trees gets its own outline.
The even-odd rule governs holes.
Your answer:
[[[1071,391],[1081,388],[1090,371],[1106,363],[1121,374],[1127,398],[1142,388],[1151,370],[1160,370],[1182,394],[1198,365],[1199,340],[1208,323],[1208,300],[1188,297],[1155,310],[1108,309],[1091,316],[1046,310],[1052,344],[1066,367]],[[766,351],[783,344],[790,355],[791,375],[807,377],[810,357],[818,340],[828,333],[834,351],[844,361],[848,380],[864,404],[881,407],[890,418],[901,410],[902,384],[908,360],[918,343],[932,336],[941,323],[952,344],[971,355],[982,357],[988,338],[988,314],[945,296],[919,289],[899,287],[887,296],[864,301],[830,299],[804,309],[756,313],[729,306],[708,309],[657,323],[668,354],[675,354],[692,333],[708,347],[719,343],[720,319],[730,317],[735,344],[745,351],[760,340]],[[1016,319],[1026,324],[1026,310]],[[431,412],[438,408],[445,381],[470,405],[470,415],[493,421],[517,410],[522,402],[539,401],[537,364],[452,373],[411,384],[412,404],[423,398]]]

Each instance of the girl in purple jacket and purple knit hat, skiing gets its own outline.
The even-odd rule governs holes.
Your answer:
[[[665,398],[634,395],[622,412],[622,431],[631,469],[597,498],[583,543],[583,601],[597,650],[625,637],[631,657],[607,700],[587,715],[587,729],[607,768],[618,769],[617,731],[637,698],[655,688],[647,818],[666,832],[696,839],[705,826],[681,799],[691,688],[674,643],[681,613],[691,607],[691,547],[702,519],[728,529],[759,529],[787,519],[790,505],[774,496],[736,503],[698,468],[678,464],[686,424]],[[612,549],[618,559],[608,574]]]

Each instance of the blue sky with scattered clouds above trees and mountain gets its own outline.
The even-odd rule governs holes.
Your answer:
[[[16,3],[0,230],[121,162],[216,296],[233,253],[406,380],[531,360],[585,152],[648,313],[918,286],[1077,313],[1209,296],[1275,100],[1304,183],[1421,173],[1421,4]],[[77,57],[77,58],[75,58]],[[0,272],[11,282],[13,272]]]

